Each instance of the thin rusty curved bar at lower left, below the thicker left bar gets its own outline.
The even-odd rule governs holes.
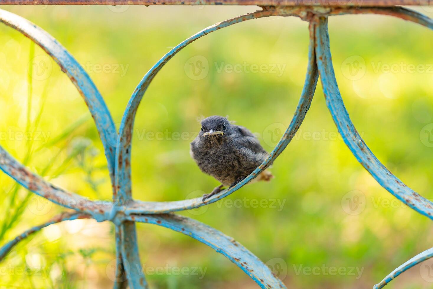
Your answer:
[[[45,228],[45,227],[48,227],[49,225],[63,222],[63,221],[75,220],[75,219],[85,219],[85,218],[91,218],[91,216],[87,215],[87,214],[80,213],[80,212],[63,212],[59,215],[56,215],[54,218],[52,218],[48,222],[45,222],[39,226],[30,228],[30,229],[24,231],[23,234],[16,236],[15,239],[13,239],[12,241],[9,241],[5,245],[3,245],[3,247],[0,248],[0,261],[3,260],[4,257],[6,257],[6,255],[10,252],[10,250],[16,244],[18,244],[19,241],[22,241],[23,239],[25,239],[29,235],[36,233],[37,231],[41,230],[42,228]]]

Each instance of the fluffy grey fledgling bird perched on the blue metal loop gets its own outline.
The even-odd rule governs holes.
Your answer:
[[[191,157],[200,170],[221,182],[203,200],[245,179],[268,153],[247,128],[231,124],[223,116],[209,116],[201,122],[201,131],[191,142]],[[272,174],[264,170],[255,180],[269,181]]]

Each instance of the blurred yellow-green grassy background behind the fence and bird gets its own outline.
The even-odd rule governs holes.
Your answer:
[[[166,52],[206,26],[256,10],[1,8],[35,22],[74,55],[99,88],[117,127],[137,83]],[[433,9],[418,10],[433,15]],[[356,128],[391,172],[433,198],[432,32],[384,16],[336,16],[329,25],[336,78]],[[134,198],[180,200],[218,185],[189,156],[201,116],[227,115],[257,133],[271,151],[302,90],[307,26],[294,17],[243,22],[197,40],[169,61],[137,113]],[[111,198],[102,145],[81,96],[39,46],[4,25],[0,116],[0,144],[32,171],[90,199]],[[245,186],[224,200],[180,214],[233,237],[291,288],[371,288],[433,247],[432,223],[396,202],[337,136],[320,83],[304,123],[271,171],[275,179],[270,183]],[[0,184],[0,245],[62,211],[20,189],[4,173]],[[153,288],[257,287],[233,263],[194,239],[147,224],[138,224],[137,231]],[[21,242],[0,263],[0,287],[109,288],[114,258],[110,223],[52,225]],[[433,288],[432,264],[408,270],[388,287]]]

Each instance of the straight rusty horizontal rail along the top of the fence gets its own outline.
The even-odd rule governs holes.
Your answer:
[[[0,5],[257,5],[394,6],[431,5],[432,0],[0,0]]]

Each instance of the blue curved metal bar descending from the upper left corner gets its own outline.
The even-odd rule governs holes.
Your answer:
[[[111,182],[114,183],[115,151],[113,145],[116,143],[117,133],[107,105],[87,72],[57,40],[29,20],[0,9],[0,22],[21,32],[45,50],[77,87],[95,120],[107,157]]]

